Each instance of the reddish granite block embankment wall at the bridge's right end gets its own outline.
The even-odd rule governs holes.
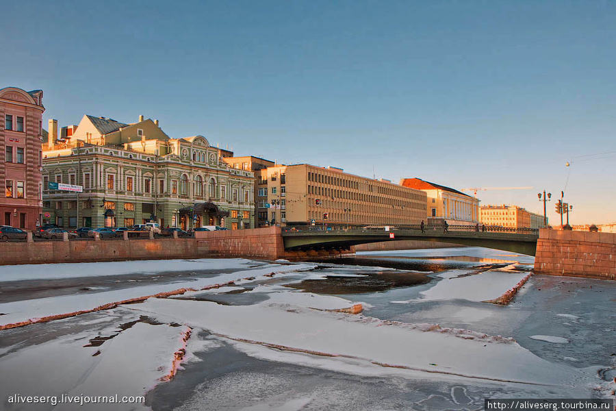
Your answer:
[[[534,272],[616,279],[616,234],[541,229]]]

